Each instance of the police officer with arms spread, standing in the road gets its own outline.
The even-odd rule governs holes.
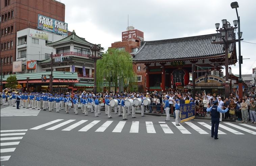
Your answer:
[[[220,124],[220,113],[224,114],[228,111],[229,106],[222,110],[220,107],[218,107],[219,102],[218,100],[215,100],[212,102],[212,107],[206,109],[207,112],[211,112],[211,137],[214,136],[214,139],[218,138],[218,128]]]

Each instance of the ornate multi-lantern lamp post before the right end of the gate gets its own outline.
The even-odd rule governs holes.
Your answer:
[[[235,22],[234,22],[235,23]],[[229,72],[228,72],[228,49],[229,45],[234,42],[238,42],[238,40],[233,39],[234,37],[234,30],[237,28],[236,25],[235,27],[231,27],[230,23],[226,20],[222,20],[222,28],[219,29],[220,24],[216,23],[215,24],[216,31],[221,33],[221,39],[219,41],[216,41],[216,36],[212,36],[212,44],[222,44],[224,45],[225,49],[225,68],[226,68],[226,80],[225,80],[225,98],[229,97],[229,92],[230,92],[230,86],[229,86]],[[240,36],[241,37],[241,36]],[[243,40],[243,39],[240,39]]]

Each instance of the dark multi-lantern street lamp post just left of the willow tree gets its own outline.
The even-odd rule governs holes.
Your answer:
[[[96,63],[97,63],[97,59],[101,59],[101,55],[102,55],[102,52],[100,52],[101,50],[101,44],[91,44],[90,45],[91,47],[91,50],[92,50],[92,55],[89,56],[91,59],[94,60],[94,86],[93,86],[93,93],[96,94],[97,93],[97,82],[96,82]],[[94,54],[93,54],[94,53]],[[98,56],[97,56],[98,54]],[[100,56],[99,56],[100,55]]]

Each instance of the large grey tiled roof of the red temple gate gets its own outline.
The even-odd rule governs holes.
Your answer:
[[[184,60],[186,58],[225,54],[223,45],[211,44],[213,35],[216,35],[216,41],[221,41],[220,33],[167,40],[142,41],[139,50],[133,57],[133,61]],[[234,45],[230,45],[229,52],[233,51]]]

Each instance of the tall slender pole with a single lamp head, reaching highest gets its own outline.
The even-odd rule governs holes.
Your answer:
[[[242,64],[242,56],[241,56],[241,36],[242,32],[240,32],[240,17],[238,16],[237,8],[239,7],[237,2],[232,2],[230,4],[231,8],[235,8],[236,10],[236,16],[237,20],[234,20],[234,25],[237,25],[238,22],[238,63],[239,63],[239,78],[238,78],[238,96],[239,98],[242,98],[243,96],[243,90],[242,90],[242,76],[241,76],[241,64]]]

